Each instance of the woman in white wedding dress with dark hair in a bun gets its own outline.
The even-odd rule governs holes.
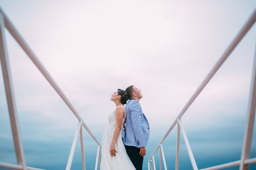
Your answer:
[[[109,114],[108,122],[102,137],[101,170],[135,170],[133,163],[126,153],[122,135],[126,120],[124,104],[128,100],[124,90],[117,89],[110,100],[115,102],[116,108]]]

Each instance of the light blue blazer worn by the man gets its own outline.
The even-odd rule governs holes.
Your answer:
[[[137,148],[146,146],[149,138],[149,124],[137,100],[129,100],[125,106],[126,126],[123,143]]]

